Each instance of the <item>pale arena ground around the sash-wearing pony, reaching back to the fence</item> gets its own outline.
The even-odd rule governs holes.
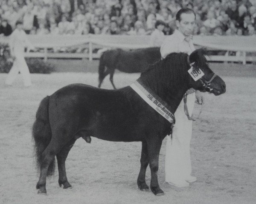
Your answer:
[[[32,124],[41,99],[70,83],[98,85],[98,61],[56,61],[52,74],[32,74],[32,87],[21,76],[12,87],[0,74],[0,204],[255,204],[256,203],[256,68],[253,65],[212,64],[227,85],[221,96],[204,94],[205,105],[193,124],[192,175],[198,181],[177,188],[165,183],[165,143],[160,151],[159,184],[165,195],[141,192],[140,142],[78,139],[67,158],[72,189],[58,186],[58,170],[47,179],[47,195],[38,195],[33,156]],[[77,64],[76,64],[77,63]],[[79,65],[80,64],[80,65]],[[64,67],[66,65],[66,67]],[[76,66],[77,65],[77,66]],[[79,67],[80,66],[80,67]],[[82,72],[80,72],[82,71]],[[139,74],[117,72],[117,87],[130,85]],[[102,88],[112,88],[108,79]],[[150,184],[150,170],[146,174]]]

